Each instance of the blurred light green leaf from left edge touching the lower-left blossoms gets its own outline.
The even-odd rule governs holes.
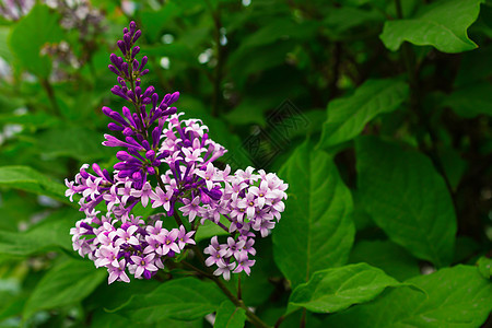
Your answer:
[[[72,250],[70,229],[74,226],[75,218],[81,214],[73,210],[59,210],[47,218],[49,222],[42,223],[31,231],[14,233],[0,231],[0,254],[26,256],[52,247]]]

